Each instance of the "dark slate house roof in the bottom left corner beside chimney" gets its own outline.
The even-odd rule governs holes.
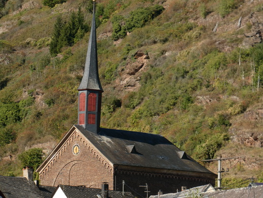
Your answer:
[[[6,198],[42,198],[34,182],[23,177],[0,176],[0,190]]]

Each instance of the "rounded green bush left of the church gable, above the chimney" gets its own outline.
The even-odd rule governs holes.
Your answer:
[[[18,159],[21,161],[22,166],[32,166],[36,170],[43,162],[43,155],[42,149],[33,148],[18,155]]]

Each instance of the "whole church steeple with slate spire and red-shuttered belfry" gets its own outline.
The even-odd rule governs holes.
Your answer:
[[[79,91],[78,124],[86,130],[100,132],[102,85],[98,77],[97,43],[95,24],[95,0],[93,0],[93,17],[86,55],[84,74]]]

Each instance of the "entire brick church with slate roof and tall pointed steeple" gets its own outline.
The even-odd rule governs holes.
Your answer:
[[[98,77],[94,13],[93,0],[85,69],[78,87],[78,124],[36,170],[41,185],[101,188],[107,182],[111,190],[122,191],[124,186],[124,191],[140,195],[214,185],[214,173],[165,137],[100,127],[103,89]]]

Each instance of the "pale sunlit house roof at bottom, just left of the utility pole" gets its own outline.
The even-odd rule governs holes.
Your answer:
[[[184,190],[177,193],[168,193],[158,195],[151,195],[149,198],[184,198],[184,197],[195,197],[194,195],[203,194],[204,192],[215,191],[214,187],[211,184],[207,184],[204,186],[194,187],[188,190]],[[197,197],[197,196],[196,196]]]

